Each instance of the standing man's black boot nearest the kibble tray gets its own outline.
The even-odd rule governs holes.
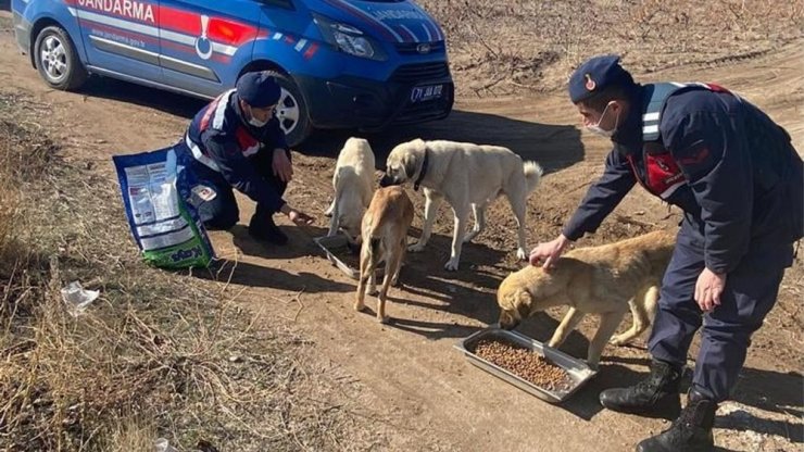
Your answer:
[[[600,403],[621,413],[675,417],[681,411],[680,382],[680,366],[653,360],[649,377],[629,388],[606,389],[600,393]]]

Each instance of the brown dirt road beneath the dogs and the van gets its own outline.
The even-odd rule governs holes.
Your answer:
[[[63,140],[70,159],[86,161],[110,178],[114,177],[112,154],[174,142],[202,105],[113,80],[93,80],[81,93],[49,90],[27,58],[16,52],[8,13],[2,14],[0,89],[50,103],[54,114],[41,118],[40,125]],[[802,42],[795,42],[755,60],[716,68],[676,67],[653,73],[650,79],[719,81],[765,108],[793,135],[797,149],[804,149],[801,49]],[[369,139],[378,162],[391,146],[414,136],[493,142],[538,160],[549,174],[528,205],[529,242],[535,244],[557,233],[608,151],[605,140],[580,133],[575,124],[563,93],[458,99],[456,112],[444,122]],[[442,269],[452,224],[451,213],[442,210],[432,244],[411,256],[402,275],[404,287],[391,292],[388,311],[397,318],[393,325],[381,326],[373,315],[353,312],[354,282],[334,268],[311,240],[325,233],[323,211],[330,200],[332,155],[347,136],[318,134],[294,155],[297,174],[288,198],[318,218],[310,228],[286,226],[291,246],[265,249],[251,241],[243,223],[253,205],[242,197],[241,224],[212,237],[222,258],[237,261],[231,282],[233,290],[246,288],[241,303],[262,313],[266,324],[292,323],[314,343],[313,359],[329,363],[348,381],[344,392],[363,407],[365,422],[376,426],[376,450],[623,451],[667,425],[662,419],[607,412],[598,403],[600,390],[632,384],[645,371],[644,338],[637,348],[607,348],[599,377],[562,406],[472,367],[453,349],[457,339],[495,321],[494,289],[518,265],[514,218],[504,202],[494,204],[488,215],[490,228],[477,243],[465,247],[462,267],[454,274]],[[420,194],[412,194],[420,212]],[[418,215],[415,227],[420,227]],[[630,194],[617,215],[629,222],[613,217],[582,243],[646,230],[640,224],[670,225],[677,218],[676,212],[667,214],[666,208],[641,192]],[[716,438],[725,450],[801,450],[802,274],[796,262],[779,305],[755,338],[736,401],[720,411]],[[300,303],[292,302],[297,294]],[[537,316],[523,330],[545,340],[561,314],[556,310]],[[585,321],[582,334],[574,334],[564,350],[583,356],[586,337],[594,326],[594,321]]]

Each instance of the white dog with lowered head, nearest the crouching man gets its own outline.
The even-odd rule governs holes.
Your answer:
[[[325,212],[331,215],[328,236],[342,230],[351,241],[360,241],[363,214],[374,196],[374,151],[368,141],[363,138],[347,140],[335,165],[335,200]]]

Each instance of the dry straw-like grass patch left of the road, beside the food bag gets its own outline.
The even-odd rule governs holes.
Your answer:
[[[13,117],[0,121],[0,167],[11,170],[0,178],[0,450],[381,440],[363,432],[352,395],[307,361],[302,338],[254,327],[226,284],[230,266],[219,281],[145,266],[113,181],[60,158],[39,129],[47,105],[0,95],[0,109]],[[76,279],[101,297],[73,317],[60,289]]]

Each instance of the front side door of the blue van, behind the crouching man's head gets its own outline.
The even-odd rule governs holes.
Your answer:
[[[214,97],[235,86],[260,29],[255,0],[162,0],[161,64],[165,81]]]

